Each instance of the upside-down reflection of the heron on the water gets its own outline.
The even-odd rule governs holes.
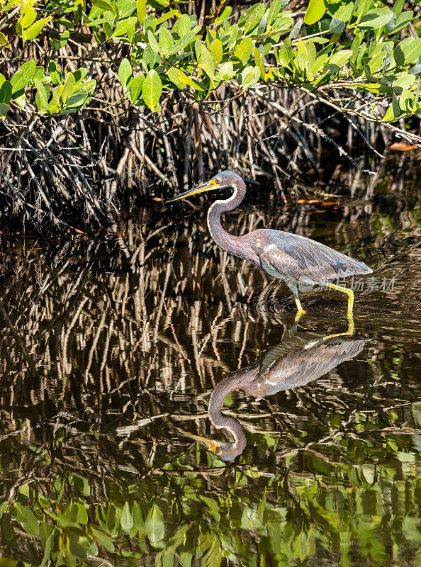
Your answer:
[[[225,397],[232,391],[244,390],[256,398],[264,398],[284,390],[305,386],[317,380],[345,360],[361,352],[367,339],[345,339],[347,333],[320,337],[315,333],[297,333],[296,325],[284,335],[281,344],[245,368],[230,372],[211,392],[208,417],[216,429],[230,432],[234,441],[229,444],[173,427],[181,434],[205,444],[207,449],[225,461],[232,461],[244,451],[247,438],[240,422],[223,414]]]

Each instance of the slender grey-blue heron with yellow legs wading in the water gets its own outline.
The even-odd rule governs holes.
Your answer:
[[[220,172],[207,183],[185,191],[168,202],[225,187],[233,190],[230,198],[215,201],[208,210],[208,229],[213,240],[227,252],[249,260],[266,274],[284,280],[296,301],[297,318],[305,313],[298,298],[298,283],[318,284],[346,293],[347,317],[352,318],[354,292],[352,289],[337,286],[330,280],[371,274],[372,270],[364,262],[290,232],[259,229],[244,236],[228,234],[221,225],[221,215],[240,205],[246,193],[245,182],[236,173]]]

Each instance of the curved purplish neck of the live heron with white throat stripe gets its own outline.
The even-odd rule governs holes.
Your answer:
[[[235,207],[239,206],[245,197],[246,186],[242,179],[236,181],[236,184],[232,187],[232,189],[234,191],[229,199],[226,199],[225,201],[215,201],[208,210],[208,229],[209,232],[211,232],[213,240],[215,240],[221,248],[228,252],[232,252],[232,254],[235,254],[236,256],[240,256],[240,258],[245,258],[244,245],[240,245],[238,237],[226,232],[220,223],[222,213],[235,209]]]

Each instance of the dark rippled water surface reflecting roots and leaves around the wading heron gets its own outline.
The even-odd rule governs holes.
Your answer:
[[[225,218],[364,259],[352,336],[346,298],[317,288],[294,325],[286,288],[189,207],[3,241],[0,566],[421,566],[419,215]],[[207,416],[221,382],[236,446]]]

